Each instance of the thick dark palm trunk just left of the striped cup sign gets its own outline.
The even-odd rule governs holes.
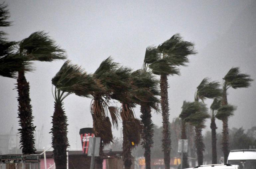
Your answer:
[[[66,169],[66,148],[69,146],[67,140],[67,125],[67,117],[63,110],[63,103],[55,102],[51,133],[56,169]]]

